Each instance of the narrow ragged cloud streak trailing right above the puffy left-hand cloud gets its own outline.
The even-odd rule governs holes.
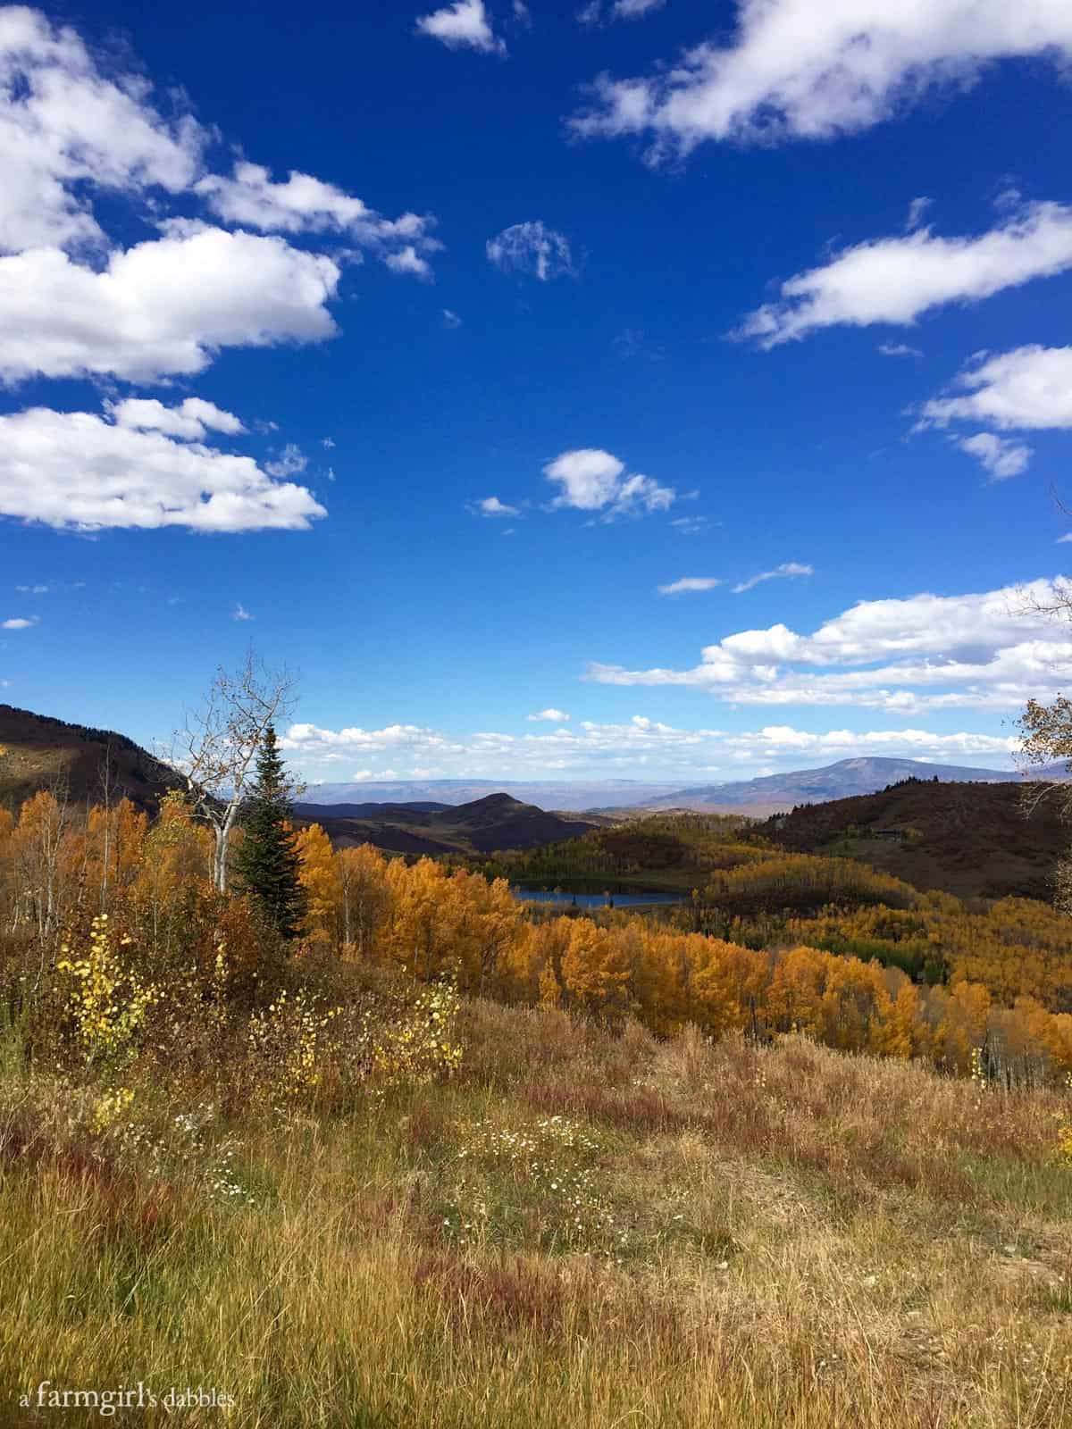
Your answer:
[[[442,244],[432,237],[435,219],[403,213],[384,219],[362,199],[334,184],[292,169],[286,183],[274,183],[263,164],[240,160],[230,179],[206,174],[194,186],[209,209],[227,223],[262,233],[339,233],[383,257],[396,273],[430,272],[417,257]]]

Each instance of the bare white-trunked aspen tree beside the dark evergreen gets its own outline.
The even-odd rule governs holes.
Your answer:
[[[253,760],[266,729],[290,713],[293,697],[293,677],[270,670],[250,650],[233,673],[220,666],[204,703],[174,735],[170,762],[216,835],[213,883],[220,893],[227,890],[227,850]]]

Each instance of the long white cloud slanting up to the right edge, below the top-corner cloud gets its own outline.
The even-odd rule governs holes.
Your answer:
[[[912,324],[945,303],[969,303],[1072,269],[1072,207],[1032,203],[979,237],[919,229],[859,243],[782,283],[780,300],[749,313],[736,336],[760,347],[820,327]]]

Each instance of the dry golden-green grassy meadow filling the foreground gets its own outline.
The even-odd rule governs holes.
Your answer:
[[[350,1097],[130,1083],[99,1133],[9,1045],[3,1423],[41,1379],[234,1400],[146,1426],[1072,1423],[1068,1097],[479,1002],[452,1039]]]

